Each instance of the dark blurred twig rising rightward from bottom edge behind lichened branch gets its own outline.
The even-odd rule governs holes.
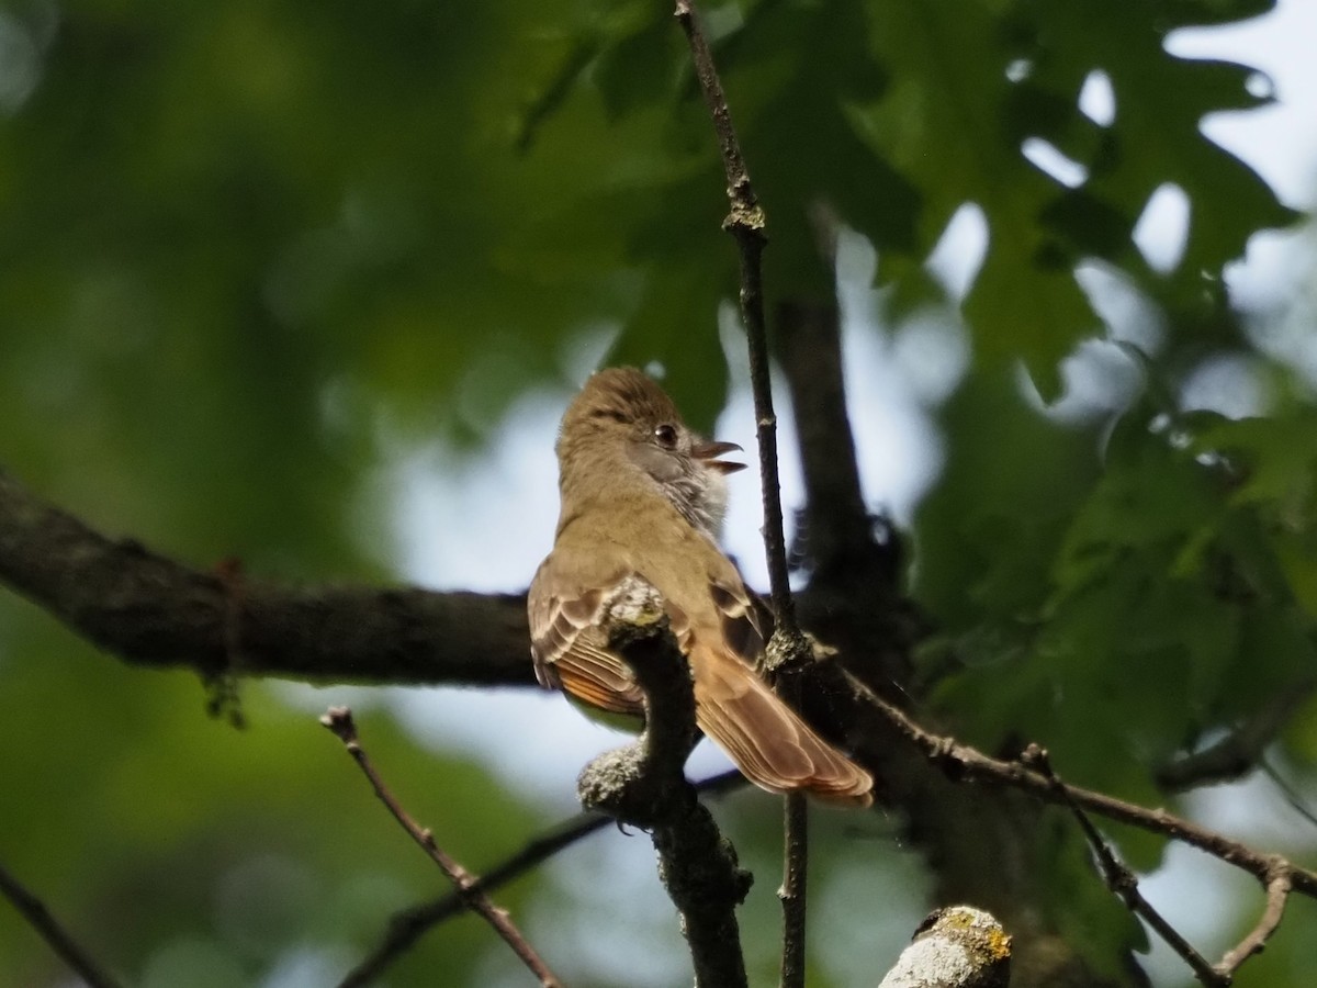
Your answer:
[[[695,792],[718,797],[734,789],[748,785],[748,780],[735,768],[695,782]],[[578,813],[562,821],[543,834],[539,834],[499,864],[490,868],[475,880],[474,888],[481,892],[495,892],[510,881],[520,877],[558,851],[582,840],[590,834],[603,830],[614,818],[593,810]],[[466,900],[457,892],[443,898],[423,902],[394,913],[389,918],[383,939],[370,951],[344,979],[337,988],[365,988],[385,974],[394,962],[403,956],[423,935],[466,912]]]

